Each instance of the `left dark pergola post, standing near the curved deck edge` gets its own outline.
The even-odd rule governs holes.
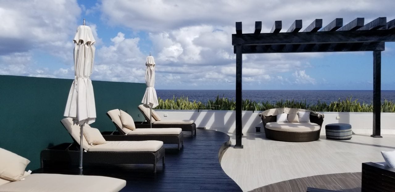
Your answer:
[[[242,45],[236,45],[236,145],[235,148],[243,149],[241,145],[241,129],[242,129],[242,114],[243,97],[242,97],[242,69],[243,69],[243,54]]]

